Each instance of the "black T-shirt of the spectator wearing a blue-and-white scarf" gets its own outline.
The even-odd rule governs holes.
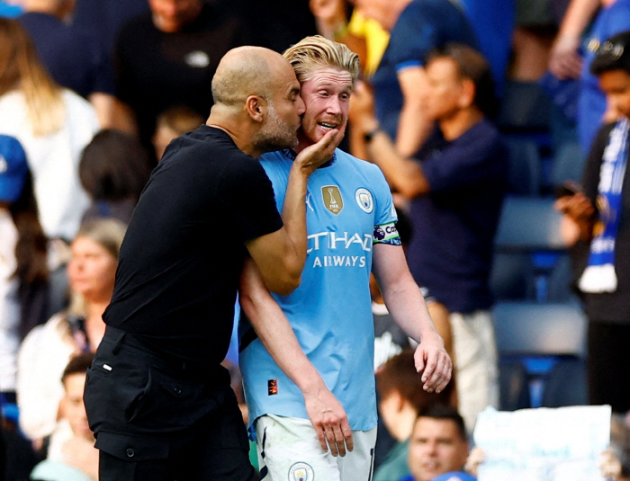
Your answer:
[[[608,145],[608,136],[615,124],[608,124],[599,129],[599,133],[584,166],[582,187],[584,194],[595,204],[598,196],[599,169],[602,156]],[[578,250],[580,247],[578,246]],[[574,251],[575,252],[575,251]],[[582,267],[586,266],[589,251],[584,249],[578,257]],[[615,271],[617,272],[617,290],[601,294],[585,294],[584,307],[591,321],[630,324],[630,175],[626,169],[621,191],[621,219],[617,231],[615,247]]]

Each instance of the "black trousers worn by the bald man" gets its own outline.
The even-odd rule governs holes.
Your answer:
[[[249,481],[247,432],[229,374],[152,352],[107,328],[87,371],[85,410],[100,481]]]

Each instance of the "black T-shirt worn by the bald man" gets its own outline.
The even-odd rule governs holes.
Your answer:
[[[222,361],[244,242],[282,226],[265,170],[228,134],[202,125],[176,138],[131,217],[105,323],[158,351]]]

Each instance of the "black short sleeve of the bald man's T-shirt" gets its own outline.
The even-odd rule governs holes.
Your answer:
[[[253,158],[231,162],[223,171],[220,197],[237,229],[233,234],[242,241],[271,234],[283,227],[271,182]]]

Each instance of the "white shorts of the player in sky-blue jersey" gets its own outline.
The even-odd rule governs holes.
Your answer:
[[[266,414],[256,422],[261,481],[371,481],[376,428],[353,431],[355,449],[333,456],[321,449],[308,419]]]

